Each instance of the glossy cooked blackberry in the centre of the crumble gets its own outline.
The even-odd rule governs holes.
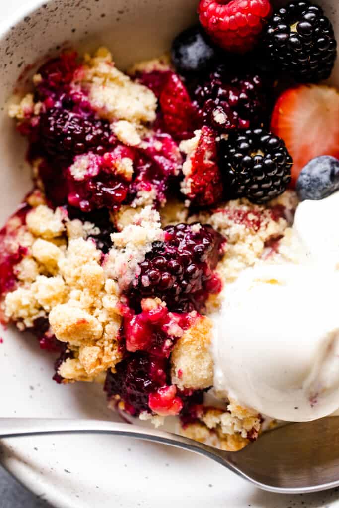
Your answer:
[[[178,224],[165,228],[165,241],[153,242],[141,273],[130,288],[130,301],[159,297],[170,310],[201,309],[221,282],[213,272],[222,255],[224,238],[211,226]]]

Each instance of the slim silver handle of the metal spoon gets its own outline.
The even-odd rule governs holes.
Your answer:
[[[189,450],[204,455],[214,461],[236,471],[227,463],[225,452],[209,447],[188,437],[148,429],[128,423],[116,423],[103,420],[59,419],[59,418],[0,418],[0,438],[29,436],[39,434],[115,434],[134,437],[158,443],[168,444],[176,448]]]

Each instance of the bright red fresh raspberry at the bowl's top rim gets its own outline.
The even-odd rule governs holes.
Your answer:
[[[257,43],[272,7],[268,0],[200,0],[200,23],[215,44],[237,53]]]

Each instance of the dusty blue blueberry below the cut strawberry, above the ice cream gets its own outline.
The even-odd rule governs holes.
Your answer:
[[[329,155],[315,157],[298,176],[296,192],[304,199],[323,199],[339,189],[339,161]]]

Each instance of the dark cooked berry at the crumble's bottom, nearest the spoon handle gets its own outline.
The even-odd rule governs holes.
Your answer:
[[[118,396],[124,402],[125,411],[133,416],[150,412],[149,394],[166,386],[167,361],[147,353],[130,353],[115,367],[108,370],[105,391],[109,398]]]

